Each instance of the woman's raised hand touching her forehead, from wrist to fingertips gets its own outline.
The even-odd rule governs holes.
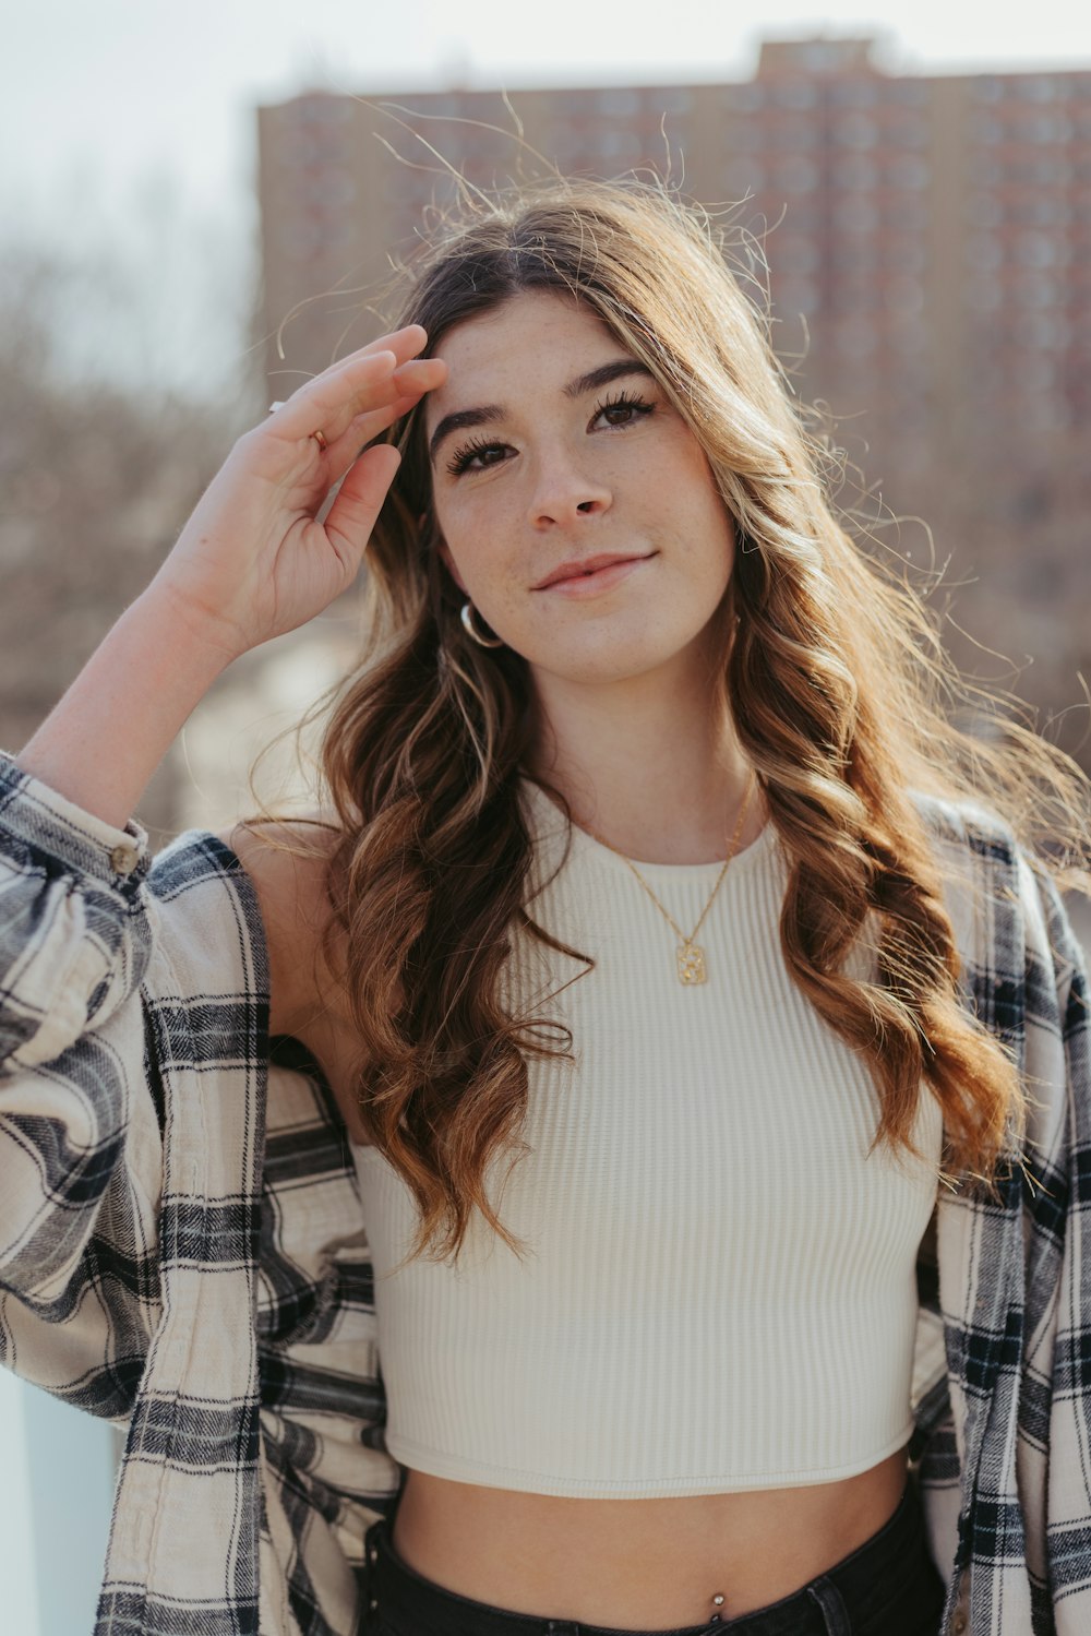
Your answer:
[[[321,614],[352,584],[399,465],[389,445],[360,450],[447,376],[417,358],[425,340],[419,324],[383,335],[245,432],[146,596],[227,661]]]

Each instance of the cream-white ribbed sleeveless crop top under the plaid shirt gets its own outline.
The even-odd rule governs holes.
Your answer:
[[[523,785],[537,880],[564,820]],[[690,929],[720,865],[641,864]],[[909,1438],[916,1253],[936,1199],[941,1111],[923,1088],[921,1165],[867,1147],[862,1062],[790,980],[787,865],[767,825],[705,919],[708,982],[625,861],[581,829],[530,913],[592,972],[541,1009],[576,1065],[530,1062],[530,1153],[491,1198],[519,1260],[476,1217],[456,1266],[397,1270],[415,1204],[355,1148],[375,1261],[386,1445],[460,1482],[649,1497],[828,1482]],[[873,975],[870,951],[854,975]],[[582,964],[517,937],[512,980],[543,1000]]]

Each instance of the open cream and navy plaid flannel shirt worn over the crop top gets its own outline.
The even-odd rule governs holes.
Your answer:
[[[941,1188],[909,1448],[947,1633],[1091,1629],[1088,980],[996,820],[919,798],[963,1000],[1034,1098],[999,1202]],[[0,761],[0,1358],[128,1428],[97,1636],[355,1636],[401,1471],[360,1194],[268,1037],[249,875]],[[725,1248],[725,1268],[730,1252]],[[533,1405],[528,1405],[528,1412]]]

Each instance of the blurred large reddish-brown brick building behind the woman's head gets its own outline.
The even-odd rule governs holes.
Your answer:
[[[312,93],[258,118],[273,396],[376,334],[391,258],[455,195],[447,165],[492,187],[541,160],[662,173],[669,154],[685,195],[736,204],[726,219],[761,244],[801,399],[829,404],[836,442],[887,507],[926,519],[939,561],[980,574],[978,640],[1034,656],[1019,690],[1047,710],[1078,700],[1091,72],[893,75],[872,41],[821,38],[765,43],[744,83]],[[924,530],[898,543],[927,553]]]

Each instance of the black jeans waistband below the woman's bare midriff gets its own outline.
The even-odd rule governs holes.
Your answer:
[[[370,1605],[361,1636],[638,1636],[510,1613],[469,1602],[422,1579],[396,1554],[389,1523],[366,1535]],[[705,1595],[705,1587],[702,1587]],[[924,1536],[921,1502],[911,1482],[878,1533],[801,1590],[731,1618],[730,1607],[705,1625],[640,1636],[937,1636],[945,1587]]]

